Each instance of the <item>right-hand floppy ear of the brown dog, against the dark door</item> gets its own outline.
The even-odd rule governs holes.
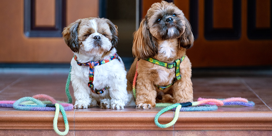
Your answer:
[[[192,28],[191,25],[189,23],[189,21],[184,17],[185,20],[185,30],[183,32],[183,34],[181,35],[180,38],[178,38],[179,41],[179,45],[185,49],[190,49],[191,47],[193,47],[193,32],[192,32]]]

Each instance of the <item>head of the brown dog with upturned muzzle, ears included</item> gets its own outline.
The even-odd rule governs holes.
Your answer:
[[[181,47],[191,48],[194,38],[190,23],[173,3],[154,3],[134,33],[133,54],[142,59],[155,56],[157,41],[168,39],[178,39]]]

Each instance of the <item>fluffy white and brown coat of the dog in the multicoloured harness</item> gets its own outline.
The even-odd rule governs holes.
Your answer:
[[[77,56],[80,63],[98,61],[113,56],[118,42],[117,26],[108,19],[79,19],[64,28],[62,32],[65,43]],[[119,57],[120,58],[120,57]],[[121,58],[120,58],[121,59]],[[71,82],[74,89],[74,108],[123,109],[124,106],[135,104],[132,94],[126,90],[126,71],[124,63],[114,59],[94,68],[94,87],[103,89],[104,93],[91,92],[89,82],[89,66],[79,66],[71,60]]]

